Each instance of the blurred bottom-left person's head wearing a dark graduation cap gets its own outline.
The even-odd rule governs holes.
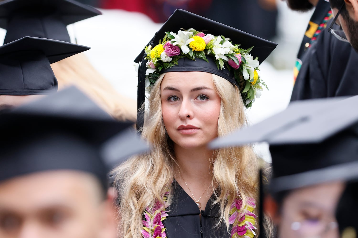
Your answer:
[[[120,136],[136,149],[107,141],[130,126],[74,87],[2,113],[0,237],[116,237],[109,163],[142,144],[134,132]]]

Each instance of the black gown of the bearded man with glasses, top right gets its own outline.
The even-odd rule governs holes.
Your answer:
[[[302,61],[291,101],[358,94],[358,53],[327,29],[321,32]]]

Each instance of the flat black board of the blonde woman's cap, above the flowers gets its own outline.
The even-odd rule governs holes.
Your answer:
[[[221,24],[219,22],[207,19],[205,17],[195,15],[191,12],[176,9],[175,12],[169,17],[164,25],[155,33],[151,42],[158,44],[159,40],[162,40],[166,31],[178,32],[182,29],[194,28],[197,31],[204,31],[205,34],[209,33],[214,36],[224,36],[230,38],[233,44],[240,44],[242,49],[249,49],[253,47],[251,54],[254,57],[258,57],[260,64],[271,54],[276,48],[277,44],[268,40],[264,40],[260,37],[248,34],[241,30],[237,30],[233,27]],[[134,60],[139,63],[144,55],[144,49]]]

